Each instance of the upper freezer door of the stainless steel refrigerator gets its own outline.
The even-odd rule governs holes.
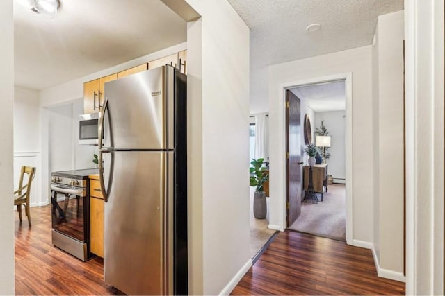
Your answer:
[[[173,148],[174,71],[163,66],[105,84],[102,115],[111,139],[105,134],[99,148]]]

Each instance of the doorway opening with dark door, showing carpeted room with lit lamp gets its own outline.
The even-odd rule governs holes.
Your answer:
[[[345,80],[287,89],[286,134],[286,226],[345,241]],[[315,164],[309,164],[309,156],[315,156]]]

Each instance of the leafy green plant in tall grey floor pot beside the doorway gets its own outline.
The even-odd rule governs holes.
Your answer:
[[[264,159],[252,159],[252,166],[250,166],[250,186],[256,186],[253,197],[253,215],[257,219],[266,218],[267,204],[266,192],[264,192],[263,184],[269,178],[267,173],[264,173],[266,168],[263,166]]]

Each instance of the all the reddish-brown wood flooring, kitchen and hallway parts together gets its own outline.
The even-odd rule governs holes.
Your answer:
[[[16,295],[116,295],[103,261],[83,263],[51,245],[51,209],[33,207],[32,227],[15,217]],[[404,295],[405,284],[377,277],[370,250],[282,232],[232,295]]]

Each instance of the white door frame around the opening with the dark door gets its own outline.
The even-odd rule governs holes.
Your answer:
[[[282,89],[282,100],[284,108],[282,108],[283,118],[286,116],[286,90],[295,87],[302,87],[305,85],[314,85],[317,83],[333,82],[338,80],[345,80],[345,94],[346,94],[346,151],[345,151],[345,170],[346,170],[346,243],[353,245],[353,73],[339,73],[330,76],[322,76],[317,78],[309,78],[305,80],[297,80],[286,82],[280,85]],[[282,130],[286,134],[286,127]],[[284,151],[286,155],[286,151]],[[286,175],[286,159],[282,159],[284,175]],[[284,182],[285,183],[285,182]],[[284,192],[287,194],[286,184],[284,184]],[[282,202],[283,219],[280,229],[286,229],[286,194]]]

